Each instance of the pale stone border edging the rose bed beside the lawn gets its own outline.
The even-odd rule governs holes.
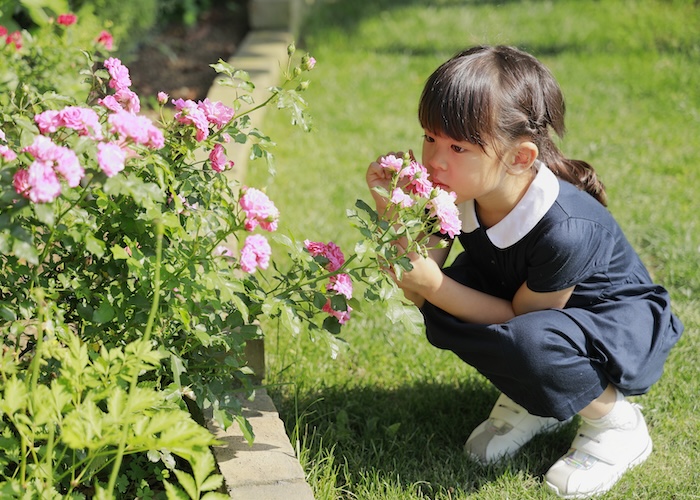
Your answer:
[[[248,12],[251,30],[228,61],[234,68],[247,71],[256,90],[255,102],[267,97],[268,87],[278,85],[281,64],[287,60],[287,47],[298,33],[302,17],[302,0],[251,0]],[[233,94],[233,95],[232,95]],[[207,97],[212,101],[230,102],[235,89],[214,84]],[[262,113],[251,116],[258,126]],[[249,147],[231,144],[226,154],[234,161],[232,176],[245,177]],[[247,346],[249,365],[264,377],[265,357],[262,341]],[[213,448],[231,498],[240,500],[314,500],[306,482],[284,423],[264,388],[255,391],[253,401],[243,400],[243,415],[253,427],[255,442],[248,446],[236,424],[224,431],[211,418],[207,427],[223,444]]]

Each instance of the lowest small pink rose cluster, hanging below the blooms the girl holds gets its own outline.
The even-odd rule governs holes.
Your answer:
[[[347,301],[352,298],[352,280],[349,274],[338,273],[345,264],[342,250],[332,241],[322,243],[304,240],[304,247],[328,272],[335,273],[330,276],[326,285],[326,291],[333,295],[326,299],[322,310],[344,325],[350,319],[350,312],[352,312],[352,307],[347,304]],[[333,297],[344,297],[344,300],[337,301]]]

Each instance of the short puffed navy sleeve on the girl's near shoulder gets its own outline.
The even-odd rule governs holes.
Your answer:
[[[605,273],[614,236],[592,220],[570,218],[546,230],[530,249],[527,286],[533,292],[555,292]]]

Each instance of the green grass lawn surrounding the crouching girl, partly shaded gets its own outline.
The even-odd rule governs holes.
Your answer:
[[[431,6],[426,6],[430,3]],[[686,333],[645,396],[655,451],[606,498],[698,498],[700,486],[700,8],[693,1],[344,0],[316,2],[299,45],[318,64],[307,94],[315,130],[270,114],[278,174],[267,185],[281,224],[299,238],[359,239],[345,211],[369,199],[368,163],[420,146],[416,106],[430,72],[477,43],[525,48],[567,99],[565,153],[590,161],[610,209]],[[381,305],[355,314],[334,358],[322,338],[266,325],[269,391],[317,500],[552,498],[541,484],[566,451],[568,426],[513,460],[482,467],[462,444],[496,390]]]

